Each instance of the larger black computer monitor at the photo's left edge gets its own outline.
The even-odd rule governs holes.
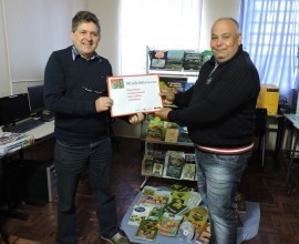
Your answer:
[[[0,98],[0,125],[7,125],[30,116],[28,94]]]

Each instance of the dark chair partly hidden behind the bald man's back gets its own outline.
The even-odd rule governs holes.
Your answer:
[[[267,109],[256,109],[256,136],[259,138],[258,151],[260,151],[261,145],[261,166],[265,162],[267,116]]]

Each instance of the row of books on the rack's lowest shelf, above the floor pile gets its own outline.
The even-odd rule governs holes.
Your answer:
[[[165,154],[145,154],[142,161],[142,175],[195,181],[195,154],[182,151],[167,151]]]

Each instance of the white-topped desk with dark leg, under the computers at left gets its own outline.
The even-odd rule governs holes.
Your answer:
[[[34,143],[40,141],[40,140],[44,140],[49,136],[52,136],[54,132],[54,120],[50,121],[50,122],[45,122],[43,124],[41,124],[38,128],[34,128],[28,132],[25,132],[25,134],[28,135],[32,135],[32,138],[34,139]],[[33,144],[34,144],[33,143]],[[32,144],[30,143],[22,143],[21,146],[18,146],[11,151],[8,151],[6,154],[0,156],[1,163],[2,163],[2,171],[3,171],[3,180],[4,180],[4,184],[6,184],[6,194],[7,194],[7,199],[8,199],[8,210],[7,211],[2,211],[0,214],[2,215],[7,215],[10,217],[16,217],[16,218],[21,218],[21,220],[27,220],[28,215],[21,212],[17,212],[13,203],[12,203],[12,197],[11,197],[11,190],[10,190],[10,177],[9,177],[9,169],[8,165],[10,163],[10,159],[14,153],[22,153],[22,150],[25,148],[31,146]]]

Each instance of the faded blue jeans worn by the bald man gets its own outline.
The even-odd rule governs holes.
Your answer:
[[[238,155],[218,155],[196,149],[197,184],[208,206],[210,243],[235,244],[237,223],[234,197],[251,152]]]

